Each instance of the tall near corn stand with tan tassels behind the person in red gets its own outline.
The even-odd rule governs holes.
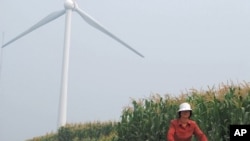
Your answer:
[[[195,120],[211,141],[228,141],[230,124],[250,124],[250,87],[223,85],[208,91],[191,90],[179,97],[153,95],[133,100],[118,123],[118,141],[166,141],[171,119],[180,103],[189,102]]]

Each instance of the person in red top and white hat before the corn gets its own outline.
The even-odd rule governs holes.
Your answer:
[[[178,119],[171,120],[167,132],[167,141],[191,141],[193,135],[199,141],[207,141],[206,135],[201,131],[196,122],[190,119],[192,116],[190,104],[182,103],[178,114]]]

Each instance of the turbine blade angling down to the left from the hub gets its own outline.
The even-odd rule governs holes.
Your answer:
[[[5,43],[3,47],[9,45],[10,43],[16,41],[17,39],[25,36],[26,34],[36,30],[37,28],[55,20],[56,18],[62,16],[65,13],[65,10],[61,10],[61,11],[57,11],[57,12],[53,12],[51,14],[49,14],[47,17],[43,18],[42,20],[40,20],[38,23],[36,23],[35,25],[33,25],[32,27],[30,27],[29,29],[27,29],[26,31],[22,32],[21,34],[19,34],[18,36],[16,36],[15,38],[13,38],[12,40],[10,40],[9,42]]]

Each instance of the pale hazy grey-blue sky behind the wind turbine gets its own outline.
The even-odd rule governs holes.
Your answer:
[[[250,82],[249,0],[78,0],[80,8],[141,52],[140,58],[72,17],[69,123],[119,120],[131,98],[178,95],[227,81]],[[63,0],[1,0],[1,43]],[[65,17],[2,49],[0,140],[56,131]]]

